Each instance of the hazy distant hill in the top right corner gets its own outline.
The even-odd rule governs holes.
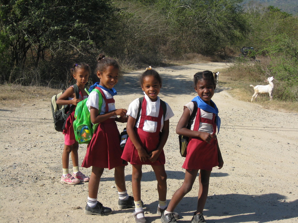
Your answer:
[[[249,3],[250,0],[244,0],[243,4]],[[283,12],[288,12],[293,15],[298,15],[298,3],[297,0],[254,0],[260,2],[264,6],[274,6],[279,8]]]

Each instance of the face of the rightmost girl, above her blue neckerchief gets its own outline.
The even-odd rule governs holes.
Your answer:
[[[214,90],[215,85],[210,80],[198,80],[197,86],[195,86],[195,91],[198,93],[198,96],[208,105],[210,105]]]

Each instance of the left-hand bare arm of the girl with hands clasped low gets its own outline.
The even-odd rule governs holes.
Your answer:
[[[148,157],[150,157],[150,155],[142,147],[142,145],[140,144],[140,142],[136,136],[136,132],[134,131],[135,124],[136,124],[136,119],[131,116],[128,116],[127,125],[126,125],[127,134],[129,136],[131,142],[136,147],[136,150],[138,150],[140,161],[145,162],[148,159]]]

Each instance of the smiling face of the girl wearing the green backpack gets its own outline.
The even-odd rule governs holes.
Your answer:
[[[118,82],[119,69],[114,66],[108,66],[105,71],[97,71],[97,76],[100,78],[100,85],[112,89]]]

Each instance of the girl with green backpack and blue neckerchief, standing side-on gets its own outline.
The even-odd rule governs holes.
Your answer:
[[[90,110],[90,118],[93,124],[99,123],[90,143],[82,167],[91,167],[92,172],[89,180],[89,193],[85,214],[108,215],[112,213],[111,208],[104,207],[97,201],[99,183],[104,168],[113,169],[115,183],[118,189],[120,209],[134,208],[134,198],[128,196],[125,186],[124,167],[127,162],[122,160],[120,148],[119,131],[115,121],[127,122],[126,109],[115,109],[114,89],[118,82],[119,65],[116,60],[100,54],[97,59],[97,77],[100,82],[95,83],[89,89],[97,88],[101,95],[92,91],[86,102]],[[99,108],[99,97],[103,98],[103,104]],[[120,117],[117,117],[120,116]]]

